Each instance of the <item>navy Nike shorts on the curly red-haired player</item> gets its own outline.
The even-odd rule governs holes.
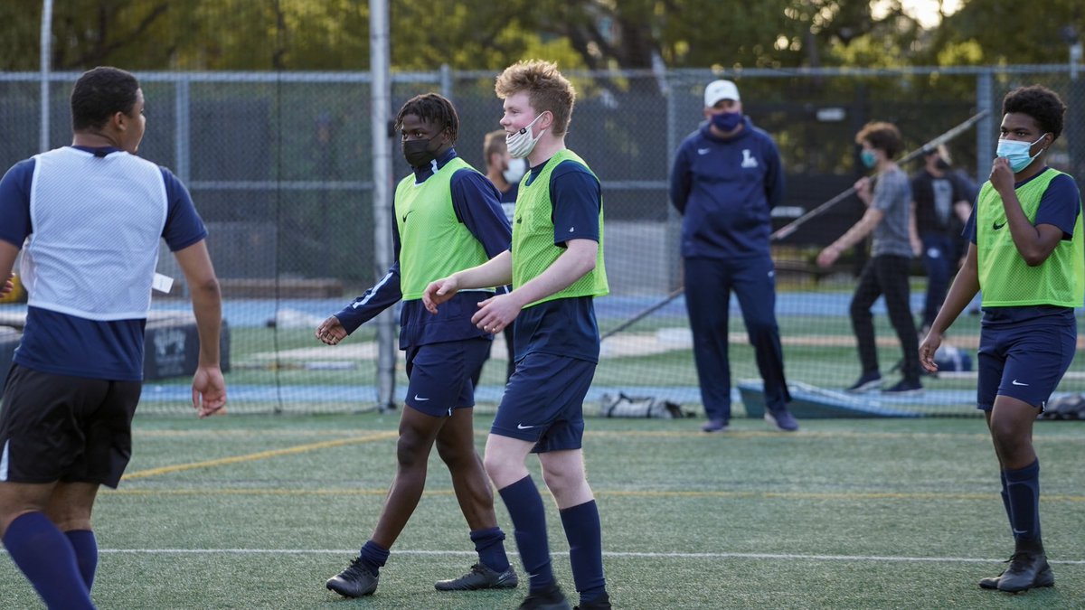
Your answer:
[[[584,397],[596,363],[532,353],[516,363],[497,407],[492,434],[531,441],[533,453],[579,449]]]

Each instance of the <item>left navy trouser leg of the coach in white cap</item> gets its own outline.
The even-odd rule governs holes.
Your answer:
[[[693,333],[701,402],[710,422],[731,418],[731,371],[727,354],[730,289],[718,260],[686,258],[686,309]]]

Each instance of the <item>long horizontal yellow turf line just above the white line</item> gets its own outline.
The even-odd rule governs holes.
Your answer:
[[[128,496],[383,496],[387,490],[297,490],[284,487],[266,488],[207,488],[207,490],[116,490],[108,492],[111,495]],[[426,490],[424,495],[451,496],[452,490]],[[727,491],[597,491],[596,496],[607,497],[648,497],[648,498],[741,498],[741,499],[818,499],[818,500],[991,500],[996,497],[995,493],[990,494],[940,494],[935,492],[727,492]],[[1085,503],[1085,496],[1074,496],[1067,494],[1046,494],[1042,496],[1047,503]]]

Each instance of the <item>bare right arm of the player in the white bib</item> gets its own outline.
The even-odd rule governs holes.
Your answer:
[[[200,358],[192,377],[192,407],[200,417],[215,415],[226,406],[226,380],[219,366],[219,333],[222,327],[222,295],[218,278],[201,240],[174,253],[192,294],[192,313],[200,335]]]

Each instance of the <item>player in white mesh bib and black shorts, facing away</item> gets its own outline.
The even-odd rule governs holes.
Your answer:
[[[49,608],[93,608],[90,514],[99,486],[116,487],[131,456],[162,238],[199,329],[192,406],[206,417],[226,405],[207,230],[180,181],[136,156],[143,107],[131,74],[84,73],[72,90],[72,145],[21,161],[0,180],[0,277],[25,241],[29,292],[0,412],[0,530]]]

